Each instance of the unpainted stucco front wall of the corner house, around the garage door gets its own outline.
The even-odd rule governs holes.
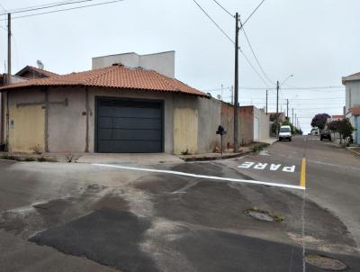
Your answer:
[[[49,152],[85,152],[85,87],[48,87],[47,90],[49,99]],[[167,92],[126,91],[89,87],[89,152],[94,152],[95,97],[101,96],[163,101],[164,151],[166,153],[174,153],[174,145],[177,149],[175,152],[181,152],[182,149],[184,149],[184,141],[187,141],[185,147],[187,147],[191,153],[211,152],[220,144],[220,136],[215,133],[220,124],[220,102],[215,99]],[[32,88],[11,92],[9,99],[9,105],[11,107],[10,120],[12,120],[12,118],[15,119],[15,128],[18,127],[20,122],[23,130],[21,133],[22,135],[25,133],[25,135],[27,135],[25,138],[28,139],[26,141],[29,141],[25,143],[26,148],[19,147],[17,144],[19,142],[19,138],[16,136],[17,132],[13,132],[10,135],[12,139],[11,145],[17,150],[29,150],[29,148],[35,145],[39,145],[42,149],[45,148],[46,111],[42,108],[45,107],[45,98],[44,88]],[[65,104],[66,100],[67,104]],[[32,105],[23,106],[21,110],[18,110],[16,104],[19,103],[31,103]],[[34,104],[36,104],[36,106]],[[27,123],[31,123],[31,125],[27,126]],[[176,127],[182,127],[182,129],[176,131]],[[183,135],[175,135],[175,131],[176,133],[181,131]],[[23,138],[21,141],[24,141]]]

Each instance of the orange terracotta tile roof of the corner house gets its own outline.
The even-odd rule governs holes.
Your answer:
[[[109,68],[71,73],[64,76],[31,79],[26,82],[3,86],[0,91],[31,86],[102,86],[120,89],[141,89],[199,95],[205,93],[183,82],[161,75],[153,70],[131,69],[116,65]]]

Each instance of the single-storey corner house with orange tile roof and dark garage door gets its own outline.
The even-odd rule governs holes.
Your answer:
[[[0,92],[13,152],[206,153],[220,141],[220,101],[155,70],[115,63]]]

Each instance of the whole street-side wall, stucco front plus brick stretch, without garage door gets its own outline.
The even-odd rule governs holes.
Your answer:
[[[213,98],[170,92],[80,86],[39,87],[13,90],[9,94],[10,121],[13,116],[22,119],[17,120],[13,127],[16,129],[19,122],[26,123],[25,117],[28,117],[25,116],[28,114],[24,114],[26,112],[31,115],[29,120],[36,119],[37,122],[34,122],[36,128],[42,133],[35,133],[29,127],[29,144],[27,146],[27,141],[23,142],[21,150],[18,151],[31,151],[31,147],[39,145],[44,151],[54,153],[94,152],[96,97],[163,101],[164,151],[166,153],[181,153],[184,150],[189,150],[191,153],[213,152],[216,148],[220,148],[220,135],[216,134],[220,124],[227,131],[223,138],[223,148],[233,147],[233,106]],[[19,113],[15,113],[19,104],[29,108],[32,106],[33,110],[29,109],[25,112],[19,110]],[[39,112],[39,107],[42,107],[43,115]],[[175,116],[175,113],[178,113],[178,116]],[[238,113],[238,139],[241,145],[254,141],[254,117],[259,119],[260,141],[268,138],[268,116],[263,111],[257,110],[254,106],[245,106],[239,107]],[[40,122],[43,126],[40,126]],[[27,133],[27,131],[22,133]],[[5,134],[4,131],[4,137]],[[10,137],[14,135],[17,135],[14,131],[10,133]],[[17,140],[23,141],[23,138],[16,137]],[[14,139],[10,139],[9,142],[16,151]]]

